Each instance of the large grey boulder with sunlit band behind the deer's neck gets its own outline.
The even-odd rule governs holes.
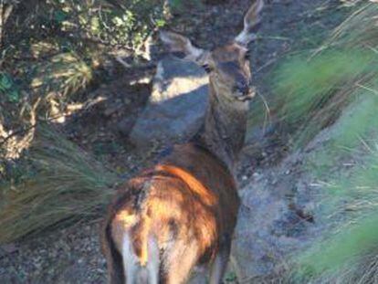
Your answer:
[[[131,131],[131,142],[143,148],[154,141],[171,143],[192,136],[204,121],[207,84],[207,75],[194,63],[170,57],[160,61],[152,95]]]

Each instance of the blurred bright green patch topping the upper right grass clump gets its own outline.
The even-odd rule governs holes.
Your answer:
[[[371,68],[373,54],[355,51],[328,51],[316,58],[290,58],[278,69],[276,92],[283,97],[278,115],[298,123],[310,111],[329,101],[347,82]]]

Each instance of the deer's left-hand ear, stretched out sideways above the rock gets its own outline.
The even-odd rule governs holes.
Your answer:
[[[205,64],[208,52],[202,48],[194,47],[189,38],[167,31],[160,32],[160,38],[170,52],[184,55],[184,59],[197,64]]]

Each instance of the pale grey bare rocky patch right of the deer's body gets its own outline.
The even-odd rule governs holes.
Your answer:
[[[295,198],[298,193],[293,188],[300,182],[297,176],[286,173],[288,169],[295,172],[296,161],[289,157],[278,167],[254,173],[253,179],[239,191],[243,205],[232,247],[238,279],[260,283],[280,275],[283,259],[306,246],[313,235],[310,232],[315,229],[314,224],[303,221],[290,207],[293,199],[299,208],[308,208],[309,199],[305,197],[310,195],[309,188],[302,184],[304,196]],[[306,177],[302,177],[304,181],[309,179]],[[292,195],[295,197],[289,198]]]

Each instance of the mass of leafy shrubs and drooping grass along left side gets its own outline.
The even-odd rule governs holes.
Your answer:
[[[148,37],[183,7],[0,0],[0,243],[99,216],[118,177],[51,124],[90,102],[119,54],[141,62]]]

